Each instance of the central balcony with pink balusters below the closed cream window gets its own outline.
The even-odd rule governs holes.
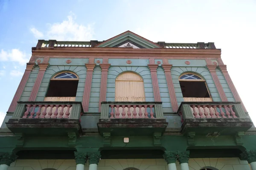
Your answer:
[[[163,133],[168,123],[162,102],[102,102],[99,133],[151,135]]]

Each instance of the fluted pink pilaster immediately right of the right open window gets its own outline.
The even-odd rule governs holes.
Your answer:
[[[221,86],[221,82],[220,80],[218,79],[218,76],[216,74],[216,67],[217,65],[206,65],[208,70],[210,71],[211,75],[212,75],[212,79],[213,79],[213,82],[214,84],[216,85],[216,88],[218,90],[218,94],[220,95],[220,98],[221,98],[221,101],[222,102],[227,102],[227,96]]]

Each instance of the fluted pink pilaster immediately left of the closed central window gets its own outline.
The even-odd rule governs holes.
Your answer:
[[[101,111],[101,102],[106,101],[107,95],[107,80],[108,80],[108,68],[110,64],[99,64],[102,69],[102,77],[100,81],[100,94],[99,94],[99,112]]]

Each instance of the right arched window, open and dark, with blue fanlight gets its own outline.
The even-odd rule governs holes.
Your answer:
[[[212,102],[205,80],[192,73],[179,78],[180,88],[185,102]]]

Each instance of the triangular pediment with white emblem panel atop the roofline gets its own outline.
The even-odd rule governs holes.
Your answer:
[[[95,47],[119,47],[119,48],[162,48],[157,43],[149,41],[131,31],[125,31],[110,38]]]

